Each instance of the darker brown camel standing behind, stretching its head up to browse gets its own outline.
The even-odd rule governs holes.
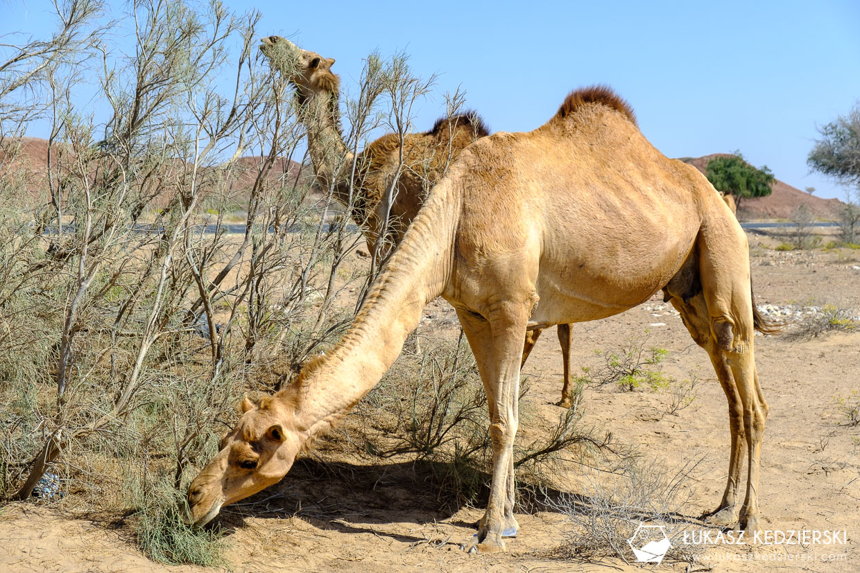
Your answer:
[[[307,127],[308,151],[316,180],[322,189],[334,186],[335,198],[349,207],[351,215],[362,229],[370,253],[388,220],[386,237],[394,245],[402,241],[427,198],[427,192],[445,173],[451,160],[478,137],[486,137],[488,128],[477,113],[466,112],[439,119],[433,129],[424,133],[409,133],[403,137],[403,167],[391,194],[389,216],[383,201],[401,163],[400,137],[390,133],[369,143],[358,157],[347,149],[341,137],[340,111],[337,105],[340,78],[331,71],[334,58],[322,58],[316,52],[302,50],[280,36],[261,39],[261,52],[273,68],[285,73],[297,90],[302,104],[301,119]],[[353,163],[358,174],[354,177],[357,196],[350,201],[350,177]],[[531,354],[543,329],[528,332],[522,363]],[[562,399],[556,402],[569,408],[573,400],[570,375],[570,325],[558,325],[558,341],[562,346]]]

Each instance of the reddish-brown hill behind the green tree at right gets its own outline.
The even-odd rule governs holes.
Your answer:
[[[713,153],[703,157],[681,157],[681,161],[691,164],[703,174],[706,173],[708,162],[716,157],[728,157],[728,153]],[[776,180],[772,192],[767,197],[744,199],[740,204],[738,218],[744,221],[761,219],[790,219],[791,213],[799,205],[806,205],[813,216],[826,221],[838,218],[839,210],[845,204],[839,199],[825,199],[810,195],[790,186],[781,180]]]

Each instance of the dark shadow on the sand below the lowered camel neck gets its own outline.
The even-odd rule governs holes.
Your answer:
[[[427,460],[360,465],[301,459],[278,484],[222,509],[212,527],[230,536],[248,527],[249,519],[298,517],[323,530],[373,533],[406,543],[422,542],[427,538],[421,534],[385,533],[377,527],[407,523],[406,530],[411,531],[439,522],[454,527],[476,527],[474,522],[451,521],[465,501],[452,495],[450,483],[440,479],[451,475],[451,471],[450,464]],[[480,486],[472,491],[470,503],[481,508],[487,503],[490,476],[478,472],[473,478]],[[594,506],[593,500],[581,493],[529,486],[519,489],[518,503],[519,509],[528,513],[544,511],[559,515],[586,512]],[[675,514],[673,519],[702,523],[691,515]]]

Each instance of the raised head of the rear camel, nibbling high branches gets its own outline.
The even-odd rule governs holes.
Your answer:
[[[335,58],[322,58],[286,38],[267,36],[260,40],[260,51],[305,96],[335,91],[341,82],[331,71]]]

